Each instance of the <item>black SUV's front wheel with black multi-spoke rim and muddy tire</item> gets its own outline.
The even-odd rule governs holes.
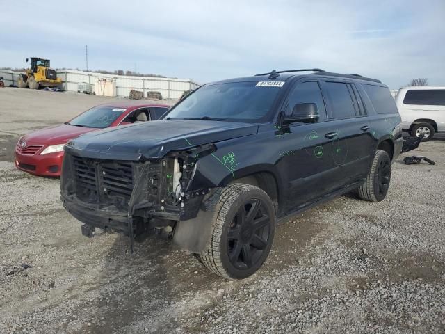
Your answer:
[[[275,234],[275,209],[257,186],[229,184],[220,195],[216,221],[200,259],[207,269],[228,279],[257,271],[268,257]]]

